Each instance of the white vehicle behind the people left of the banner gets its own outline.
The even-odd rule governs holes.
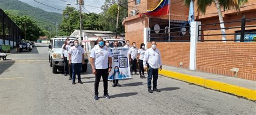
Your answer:
[[[49,45],[49,63],[52,67],[52,73],[57,73],[59,70],[63,70],[64,68],[64,60],[62,59],[62,45],[64,44],[66,38],[69,38],[70,40],[77,39],[76,37],[65,37],[65,36],[58,36],[50,39],[50,45]],[[88,64],[88,58],[87,54],[85,53],[85,64],[82,65],[82,71],[87,71],[87,64]]]

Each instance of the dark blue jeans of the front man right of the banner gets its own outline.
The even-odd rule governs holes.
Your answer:
[[[157,78],[158,78],[158,69],[152,69],[149,66],[149,71],[147,72],[147,88],[151,89],[151,80],[153,76],[153,89],[157,88]]]

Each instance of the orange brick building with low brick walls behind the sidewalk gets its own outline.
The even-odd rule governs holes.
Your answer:
[[[189,9],[183,5],[183,0],[171,0],[171,28],[180,26],[187,21]],[[131,42],[147,43],[148,48],[150,44],[145,42],[144,29],[154,29],[154,24],[158,24],[160,29],[168,26],[169,15],[160,17],[151,17],[145,15],[147,9],[153,9],[159,3],[158,0],[129,0],[128,16],[123,20],[125,25],[125,38]],[[195,2],[196,3],[196,2]],[[195,20],[201,24],[218,23],[218,13],[215,5],[208,6],[206,13],[197,12],[195,4]],[[234,20],[241,20],[242,16],[246,19],[256,18],[256,1],[248,0],[237,13],[234,9],[223,11],[224,22]],[[255,26],[256,21],[246,22],[246,26]],[[239,33],[241,28],[232,29],[241,26],[241,22],[225,24],[226,33]],[[220,28],[219,24],[212,24],[201,26],[201,29]],[[255,27],[246,28],[247,32],[256,32]],[[220,34],[220,30],[201,31],[201,35]],[[256,36],[256,34],[255,34]],[[238,35],[227,35],[227,39],[236,39]],[[221,39],[221,36],[201,36],[201,39]],[[139,45],[137,45],[139,46]],[[171,65],[189,69],[190,66],[190,42],[158,42],[157,48],[161,51],[164,65]],[[235,74],[231,71],[233,67],[238,68],[239,72]],[[197,42],[196,48],[196,70],[215,73],[219,75],[226,75],[231,77],[238,77],[248,80],[256,80],[256,43],[250,42]]]

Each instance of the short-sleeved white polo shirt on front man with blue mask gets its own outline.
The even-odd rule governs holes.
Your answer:
[[[109,62],[109,57],[112,57],[111,51],[106,46],[100,48],[96,46],[91,50],[91,58],[95,58],[95,69],[107,69],[109,66],[107,63]]]

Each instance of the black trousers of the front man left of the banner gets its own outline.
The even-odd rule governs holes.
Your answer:
[[[96,69],[97,74],[95,75],[95,95],[98,95],[100,77],[103,79],[104,94],[107,94],[107,77],[109,77],[109,69]]]

